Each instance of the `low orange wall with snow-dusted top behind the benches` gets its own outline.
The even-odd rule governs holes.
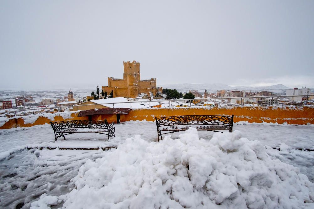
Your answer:
[[[56,116],[53,121],[62,120],[87,120],[88,116],[77,117],[78,113],[72,113],[72,118],[63,119]],[[314,124],[313,107],[226,107],[226,108],[152,108],[152,109],[132,109],[127,115],[120,115],[120,121],[147,120],[154,121],[155,116],[166,117],[174,115],[234,115],[234,122],[248,121],[250,123],[288,123],[288,124]],[[107,119],[109,123],[116,123],[116,115],[93,115],[93,120]],[[39,117],[35,123],[24,124],[23,118],[12,118],[0,129],[14,127],[30,127],[49,123],[49,119]]]

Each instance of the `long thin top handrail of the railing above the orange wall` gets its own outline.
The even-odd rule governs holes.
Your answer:
[[[34,108],[34,109],[22,109],[22,110],[14,110],[14,111],[8,111],[8,112],[3,112],[3,113],[12,113],[12,112],[22,112],[22,111],[32,111],[32,110],[42,110],[42,109],[67,109],[69,107],[78,107],[78,106],[90,106],[90,105],[105,105],[105,104],[124,104],[124,103],[131,103],[130,106],[132,106],[132,103],[146,103],[146,102],[181,102],[181,101],[202,101],[202,100],[224,100],[224,99],[243,99],[243,98],[278,98],[278,97],[311,97],[314,96],[313,94],[304,94],[304,95],[273,95],[273,96],[252,96],[252,97],[214,97],[214,98],[199,98],[199,99],[174,99],[174,100],[153,100],[153,101],[128,101],[128,102],[109,102],[109,103],[99,103],[99,104],[76,104],[72,106],[55,106],[55,107],[41,107],[41,108]],[[1,113],[0,113],[1,114]]]

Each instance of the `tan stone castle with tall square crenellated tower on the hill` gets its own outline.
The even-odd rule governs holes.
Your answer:
[[[123,62],[123,79],[108,77],[108,86],[102,86],[102,90],[109,95],[113,91],[113,97],[136,98],[139,94],[150,96],[162,93],[162,87],[156,87],[156,78],[141,80],[139,72],[140,63],[137,61]]]

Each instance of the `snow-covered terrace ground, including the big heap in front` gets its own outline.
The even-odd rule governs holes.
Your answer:
[[[109,142],[76,133],[54,143],[48,124],[0,130],[0,207],[314,207],[314,152],[294,149],[314,149],[313,125],[240,122],[233,133],[190,129],[160,143],[154,122],[115,127]]]

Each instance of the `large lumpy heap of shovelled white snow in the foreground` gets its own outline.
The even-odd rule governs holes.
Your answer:
[[[210,141],[199,139],[195,128],[159,143],[131,137],[86,161],[73,183],[76,189],[58,197],[65,208],[314,206],[313,183],[239,131],[215,133]]]

